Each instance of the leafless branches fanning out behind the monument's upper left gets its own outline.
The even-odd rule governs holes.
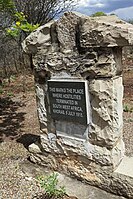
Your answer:
[[[78,0],[77,0],[78,1]],[[70,10],[75,0],[14,0],[18,12],[27,16],[27,21],[32,24],[45,24],[59,16],[64,11]]]

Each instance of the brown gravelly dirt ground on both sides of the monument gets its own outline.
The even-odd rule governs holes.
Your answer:
[[[133,156],[131,71],[124,73],[124,88],[124,141],[126,155]],[[0,86],[0,198],[32,199],[42,192],[38,183],[27,176],[30,167],[23,168],[23,163],[29,165],[29,162],[26,163],[29,156],[27,148],[38,139],[39,134],[33,76],[12,76],[10,84],[4,80]],[[29,169],[28,172],[33,177],[38,168]]]

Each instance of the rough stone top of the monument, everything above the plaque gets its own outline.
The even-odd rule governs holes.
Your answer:
[[[31,33],[23,48],[34,55],[36,70],[50,70],[51,75],[67,70],[84,78],[110,77],[122,70],[115,49],[88,47],[129,45],[133,43],[132,35],[133,26],[116,16],[92,18],[70,12]]]

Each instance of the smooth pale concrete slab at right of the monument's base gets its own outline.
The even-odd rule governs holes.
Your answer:
[[[133,157],[125,156],[114,172],[133,178]]]

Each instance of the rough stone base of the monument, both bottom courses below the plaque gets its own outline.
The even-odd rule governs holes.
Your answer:
[[[126,157],[124,157],[122,162],[119,162],[119,165],[114,165],[114,161],[111,160],[112,153],[115,154],[117,152],[116,154],[120,155],[118,150],[122,148],[122,141],[109,151],[91,144],[90,146],[85,146],[85,141],[80,139],[73,139],[73,143],[70,138],[68,140],[68,138],[60,137],[57,141],[51,135],[50,139],[51,143],[48,142],[46,136],[41,135],[38,142],[29,146],[29,151],[31,152],[30,160],[32,162],[70,177],[76,177],[76,179],[89,185],[102,188],[116,195],[133,198],[133,176],[126,172],[128,170],[127,166],[125,168],[123,166],[127,163],[127,161],[125,162]],[[89,153],[86,153],[87,147],[90,147]],[[118,158],[120,159],[120,157]],[[133,162],[133,159],[130,159],[130,161]]]

